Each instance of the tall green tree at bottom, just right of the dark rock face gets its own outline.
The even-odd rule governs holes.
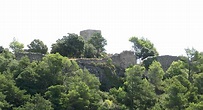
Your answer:
[[[156,95],[153,86],[143,79],[145,68],[135,65],[126,70],[126,90],[131,109],[146,110],[156,103]]]

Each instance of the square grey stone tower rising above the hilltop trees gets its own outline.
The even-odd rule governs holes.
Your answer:
[[[88,41],[95,33],[101,34],[101,31],[87,29],[87,30],[80,31],[80,36],[82,36],[86,41]]]

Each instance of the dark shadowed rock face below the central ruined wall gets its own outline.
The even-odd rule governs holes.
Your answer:
[[[100,89],[103,91],[108,91],[112,87],[119,87],[122,84],[119,74],[124,76],[124,70],[116,68],[112,64],[108,64],[107,62],[101,62],[103,60],[93,60],[85,61],[85,60],[76,60],[80,68],[87,69],[91,74],[95,74],[96,77],[99,78],[101,82]]]

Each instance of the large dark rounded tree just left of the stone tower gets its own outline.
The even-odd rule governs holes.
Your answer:
[[[68,34],[52,44],[51,53],[60,53],[62,56],[79,58],[84,51],[84,39],[77,34]]]

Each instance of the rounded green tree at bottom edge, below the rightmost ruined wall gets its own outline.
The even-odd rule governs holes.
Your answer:
[[[166,108],[173,110],[183,110],[189,105],[189,80],[182,76],[174,76],[167,81],[166,93]]]

